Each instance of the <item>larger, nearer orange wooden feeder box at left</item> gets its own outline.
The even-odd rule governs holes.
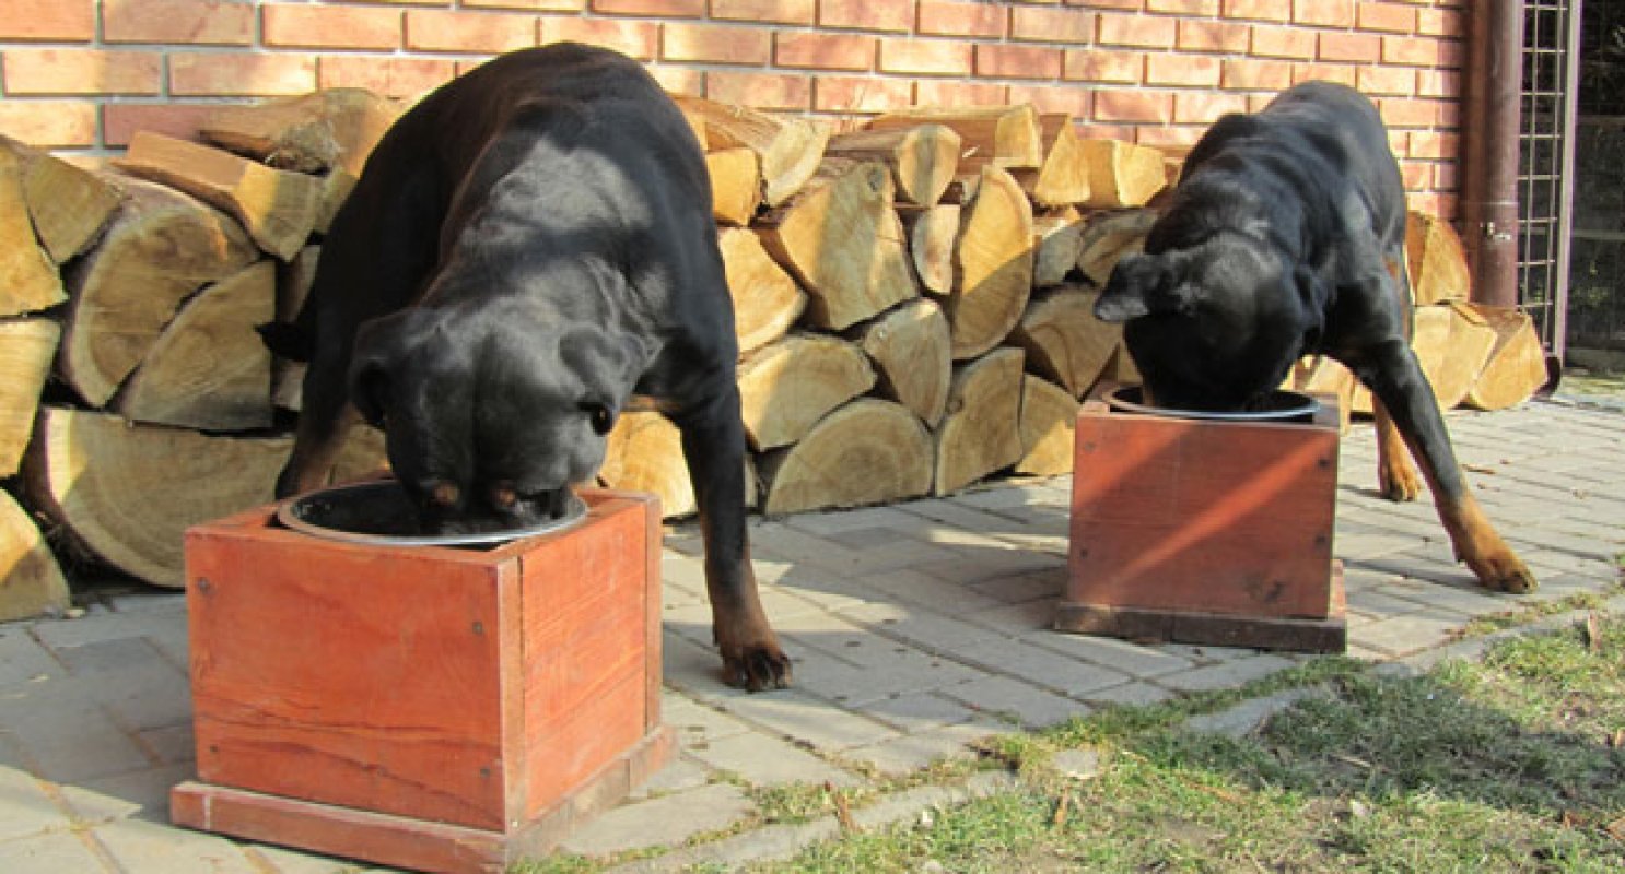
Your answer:
[[[500,871],[673,752],[660,505],[566,531],[366,546],[262,507],[187,531],[197,781],[182,825],[422,871]]]

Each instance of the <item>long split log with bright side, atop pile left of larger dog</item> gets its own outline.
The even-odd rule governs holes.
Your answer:
[[[231,213],[260,249],[284,262],[310,239],[322,208],[322,182],[315,177],[161,133],[136,132],[114,166]]]

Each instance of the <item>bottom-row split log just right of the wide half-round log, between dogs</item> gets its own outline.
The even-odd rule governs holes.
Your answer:
[[[933,494],[954,494],[1020,460],[1020,349],[994,349],[954,367],[947,416],[936,429]]]

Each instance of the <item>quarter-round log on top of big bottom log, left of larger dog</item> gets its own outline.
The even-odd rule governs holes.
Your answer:
[[[255,333],[276,315],[276,265],[234,273],[188,299],[117,396],[148,424],[249,431],[271,424],[271,353]]]

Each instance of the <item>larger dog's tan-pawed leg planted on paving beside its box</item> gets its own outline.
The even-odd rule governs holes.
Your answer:
[[[744,525],[744,426],[733,382],[704,409],[673,416],[705,541],[705,591],[723,679],[752,692],[790,686],[790,658],[767,624]]]

